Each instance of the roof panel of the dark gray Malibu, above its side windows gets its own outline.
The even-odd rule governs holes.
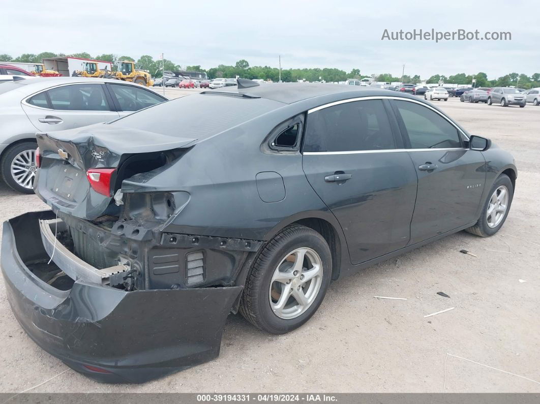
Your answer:
[[[367,97],[374,95],[396,95],[396,92],[368,86],[347,86],[343,84],[326,83],[266,83],[255,87],[237,88],[229,87],[215,92],[232,92],[248,94],[255,97],[266,98],[284,104],[293,104],[311,98],[322,97],[329,94],[350,94],[350,97]],[[400,94],[401,95],[401,94]]]

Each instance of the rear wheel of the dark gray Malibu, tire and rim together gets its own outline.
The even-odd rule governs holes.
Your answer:
[[[240,313],[263,331],[284,334],[306,323],[325,298],[332,255],[315,230],[289,225],[255,258],[240,299]]]

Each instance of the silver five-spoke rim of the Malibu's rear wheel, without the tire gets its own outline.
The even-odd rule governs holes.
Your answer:
[[[322,260],[311,248],[289,252],[270,281],[269,302],[276,316],[292,319],[315,301],[322,284]]]

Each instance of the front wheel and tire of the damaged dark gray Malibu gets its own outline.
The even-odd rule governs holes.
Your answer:
[[[507,175],[501,174],[489,191],[489,197],[484,204],[480,218],[474,226],[465,229],[465,231],[480,237],[494,235],[504,224],[513,198],[512,181]]]

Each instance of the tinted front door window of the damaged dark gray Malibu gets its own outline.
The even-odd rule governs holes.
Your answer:
[[[402,132],[413,149],[442,149],[461,147],[457,128],[449,121],[416,102],[392,101]]]

